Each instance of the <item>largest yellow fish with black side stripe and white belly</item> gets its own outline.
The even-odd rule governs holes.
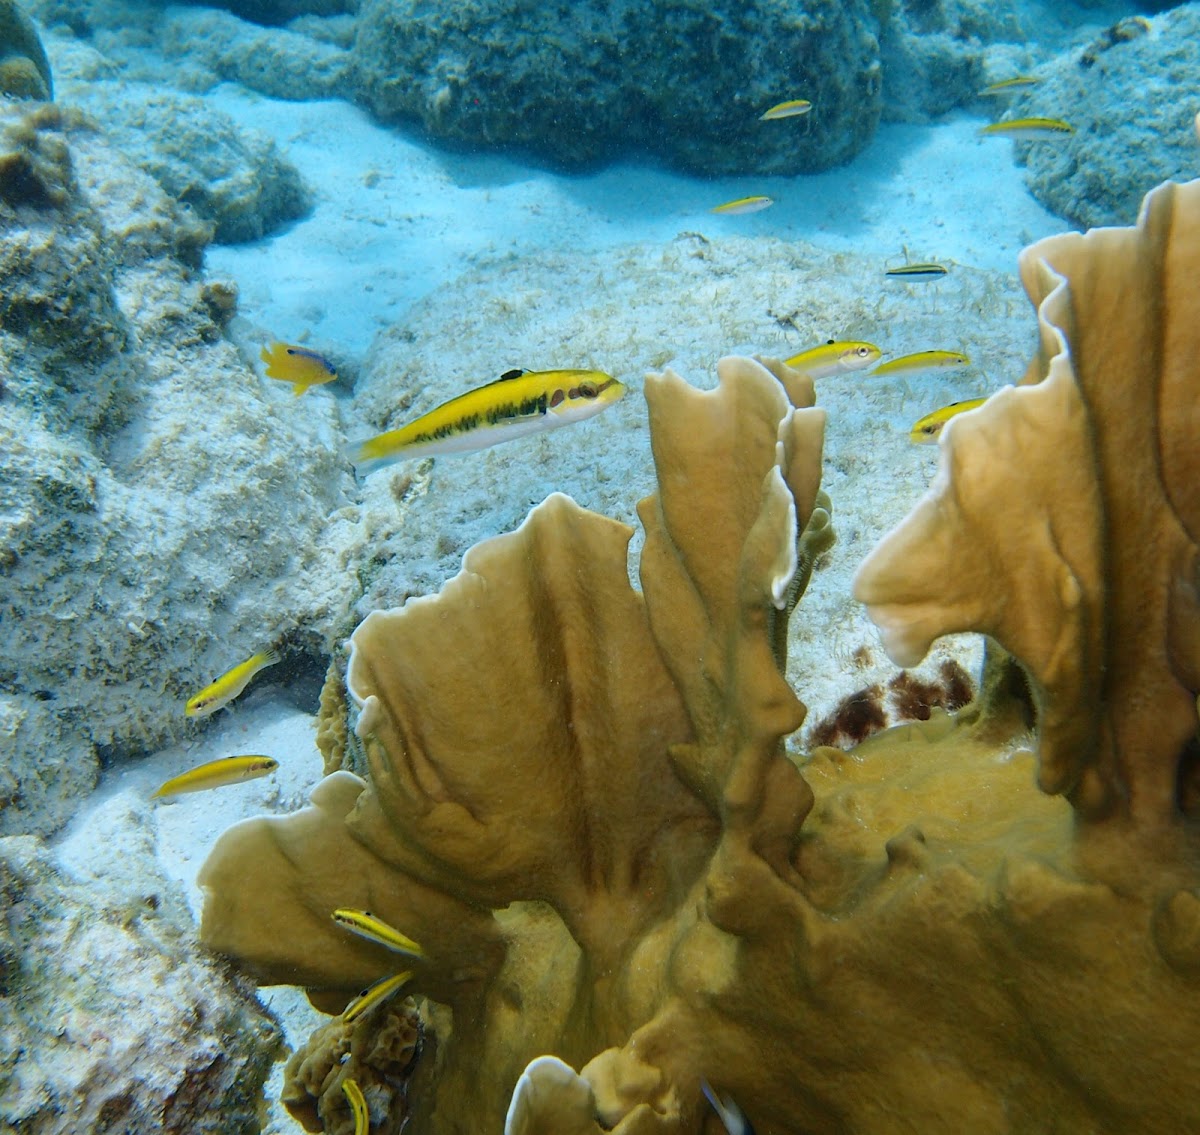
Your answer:
[[[360,442],[349,456],[366,475],[407,457],[469,454],[583,421],[624,394],[624,385],[604,371],[509,371],[407,426]]]

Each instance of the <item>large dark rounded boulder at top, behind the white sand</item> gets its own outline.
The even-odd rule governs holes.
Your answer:
[[[872,26],[866,0],[367,0],[355,58],[376,114],[472,149],[569,168],[642,152],[704,175],[803,173],[875,133]],[[806,120],[758,120],[788,98],[814,104]]]

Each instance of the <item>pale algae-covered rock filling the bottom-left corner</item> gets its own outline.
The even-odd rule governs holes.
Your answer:
[[[280,1047],[150,860],[136,890],[0,839],[0,1128],[256,1135]]]

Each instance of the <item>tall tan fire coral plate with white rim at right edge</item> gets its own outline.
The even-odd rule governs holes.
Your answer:
[[[1033,678],[1043,788],[1086,819],[1194,841],[1200,182],[1020,265],[1040,352],[947,430],[934,488],[856,595],[901,665],[949,631],[992,635]]]

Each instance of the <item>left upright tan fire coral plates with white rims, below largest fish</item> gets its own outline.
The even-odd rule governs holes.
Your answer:
[[[810,404],[811,384],[773,366]],[[703,394],[670,372],[647,382],[662,490],[643,505],[646,600],[632,530],[551,497],[438,596],[355,631],[367,781],[334,773],[312,807],[235,827],[205,865],[204,939],[319,1004],[395,965],[335,907],[422,944],[413,989],[450,1010],[432,1010],[422,1130],[498,1128],[533,1056],[582,1062],[653,1011],[658,936],[720,821],[791,870],[810,794],[780,756],[803,707],[775,657],[810,544],[828,540],[824,414],[793,409],[751,360],[718,373]]]

